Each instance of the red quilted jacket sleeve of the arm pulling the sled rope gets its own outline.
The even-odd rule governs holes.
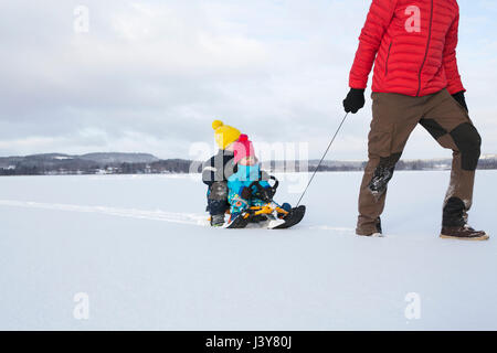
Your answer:
[[[366,88],[380,47],[381,40],[388,29],[395,10],[396,0],[373,0],[369,9],[366,24],[359,36],[359,49],[350,71],[350,88]]]

